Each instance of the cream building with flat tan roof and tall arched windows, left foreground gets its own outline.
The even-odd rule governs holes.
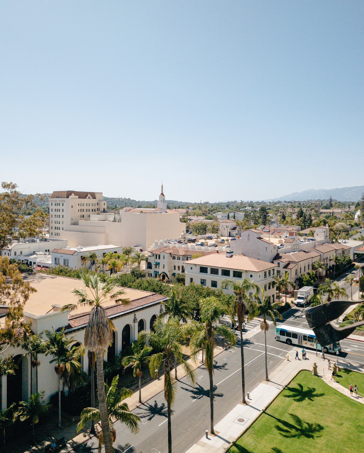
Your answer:
[[[76,308],[75,311],[61,312],[65,304],[75,304],[76,295],[74,288],[81,288],[82,282],[78,279],[61,277],[58,275],[32,274],[24,278],[31,286],[37,289],[30,295],[24,307],[24,320],[31,323],[33,333],[41,333],[45,329],[66,329],[67,335],[73,335],[76,341],[83,343],[85,328],[89,321],[89,307]],[[120,289],[120,288],[117,288]],[[138,289],[124,288],[123,299],[129,299],[129,304],[115,304],[109,301],[104,304],[106,313],[112,319],[116,328],[113,344],[109,347],[105,360],[111,360],[118,355],[124,347],[137,339],[141,330],[149,331],[154,321],[163,311],[163,303],[167,298],[161,294]],[[4,307],[6,311],[6,307]],[[0,318],[3,327],[5,318]],[[12,401],[20,399],[27,401],[31,388],[36,388],[37,374],[31,371],[30,357],[24,355],[24,349],[9,347],[8,352],[14,355],[14,360],[19,361],[15,376],[2,376],[2,409],[6,409]],[[57,392],[58,379],[54,372],[54,364],[49,363],[52,357],[38,354],[40,361],[38,371],[38,391],[45,392],[45,399]],[[83,370],[88,373],[87,350],[81,361]],[[32,387],[31,387],[32,378]]]

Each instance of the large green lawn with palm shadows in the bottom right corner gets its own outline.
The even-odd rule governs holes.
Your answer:
[[[301,371],[229,453],[361,453],[363,419],[363,404]]]

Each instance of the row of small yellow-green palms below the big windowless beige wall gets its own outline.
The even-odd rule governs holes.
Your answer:
[[[105,253],[105,255],[100,258],[96,252],[89,252],[88,255],[82,257],[82,263],[84,265],[88,265],[90,270],[94,269],[95,271],[100,270],[104,272],[104,270],[109,270],[110,274],[114,274],[116,272],[120,272],[122,269],[125,268],[129,263],[131,265],[137,264],[140,268],[140,265],[143,261],[147,261],[148,258],[141,252],[134,252],[133,247],[124,247],[123,253]]]

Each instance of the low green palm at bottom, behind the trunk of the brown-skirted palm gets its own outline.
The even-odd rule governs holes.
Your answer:
[[[122,401],[129,396],[132,396],[132,390],[121,388],[118,390],[118,382],[119,376],[116,375],[111,382],[111,386],[104,385],[104,392],[106,394],[106,405],[107,405],[107,414],[108,414],[108,423],[109,429],[108,433],[113,435],[113,442],[116,439],[116,431],[114,429],[115,421],[120,421],[124,423],[133,434],[137,434],[139,431],[138,423],[140,422],[140,418],[130,412],[129,406],[127,403],[123,403]],[[80,432],[82,428],[85,427],[85,424],[88,423],[90,420],[100,420],[101,413],[99,409],[95,407],[86,407],[81,413],[81,420],[77,425],[77,432]],[[105,443],[104,433],[106,430],[102,430],[99,434],[99,448],[98,452],[101,453],[101,447]],[[113,451],[113,447],[111,447]],[[105,444],[105,451],[106,451],[106,444]]]

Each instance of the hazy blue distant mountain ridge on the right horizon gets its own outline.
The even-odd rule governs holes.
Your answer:
[[[270,198],[265,201],[304,201],[304,200],[327,200],[330,197],[338,201],[359,201],[362,193],[364,193],[364,186],[355,187],[342,187],[336,189],[310,189],[303,192],[293,192],[288,195],[282,195],[278,198]]]

